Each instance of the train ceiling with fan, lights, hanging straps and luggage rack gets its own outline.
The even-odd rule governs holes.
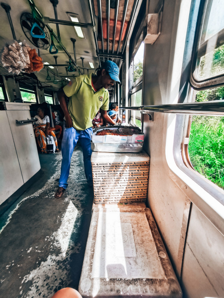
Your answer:
[[[8,20],[8,15],[10,15],[15,32],[14,38],[18,42],[25,39],[31,48],[39,51],[43,62],[52,65],[49,68],[45,64],[45,69],[35,72],[35,75],[43,84],[59,88],[61,80],[66,83],[67,78],[77,76],[79,73],[94,72],[105,59],[113,59],[118,65],[121,63],[127,35],[139,1],[3,0],[2,2],[9,5],[11,9],[7,13],[4,7],[0,7],[0,49],[3,49],[7,42],[13,41],[13,33]],[[32,14],[32,8],[34,14]],[[44,26],[45,39],[32,38],[30,35],[30,28],[34,23],[34,21],[32,23],[32,18],[35,16],[39,20],[37,23],[40,27],[42,28],[41,24]],[[76,24],[77,22],[79,25]],[[38,29],[36,30],[38,32]],[[83,37],[79,37],[78,34]],[[51,48],[50,39],[55,45]],[[56,63],[60,66],[56,67]],[[83,70],[82,67],[88,69]],[[51,81],[46,80],[46,69],[49,69]],[[7,76],[7,71],[2,67],[0,67],[0,73]],[[11,75],[12,73],[8,74],[8,76]],[[19,76],[22,77],[23,74]],[[53,80],[54,83],[56,81],[58,83],[53,85]]]

